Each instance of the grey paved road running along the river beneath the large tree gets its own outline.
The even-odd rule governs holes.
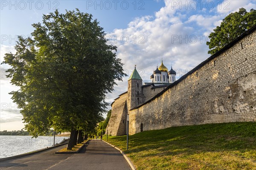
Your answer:
[[[0,162],[1,170],[131,170],[122,154],[100,140],[91,140],[77,154],[55,154],[63,146]]]

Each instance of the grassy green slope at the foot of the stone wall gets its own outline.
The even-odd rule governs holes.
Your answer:
[[[106,141],[107,136],[103,136]],[[170,127],[108,136],[137,170],[256,170],[256,122]]]

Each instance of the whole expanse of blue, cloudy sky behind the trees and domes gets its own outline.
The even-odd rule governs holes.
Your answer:
[[[0,62],[4,54],[15,53],[17,36],[31,36],[32,23],[42,22],[42,15],[78,8],[90,13],[104,28],[109,44],[117,46],[117,57],[128,74],[116,81],[114,91],[105,101],[112,103],[127,91],[128,77],[134,65],[143,79],[150,82],[153,71],[161,64],[177,72],[176,80],[210,57],[209,34],[222,19],[239,8],[256,9],[254,0],[31,0],[0,1]],[[11,91],[19,88],[6,78],[9,65],[0,65],[0,130],[24,127]],[[111,109],[109,106],[108,109]],[[106,116],[105,114],[103,116]]]

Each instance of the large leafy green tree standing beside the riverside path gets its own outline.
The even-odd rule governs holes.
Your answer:
[[[107,45],[105,32],[91,14],[66,11],[43,15],[32,24],[32,38],[19,37],[16,54],[5,54],[7,77],[19,86],[12,99],[21,109],[25,128],[35,137],[49,128],[70,131],[67,149],[78,130],[100,121],[115,80],[125,75],[116,46]]]

